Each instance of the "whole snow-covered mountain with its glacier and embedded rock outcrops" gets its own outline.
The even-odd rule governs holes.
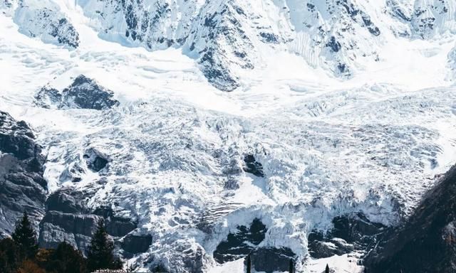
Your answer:
[[[43,246],[85,250],[105,218],[138,270],[241,272],[250,253],[261,272],[290,258],[298,272],[360,272],[455,164],[453,1],[1,0],[0,12],[0,109],[46,156],[47,185],[31,191],[46,191]]]

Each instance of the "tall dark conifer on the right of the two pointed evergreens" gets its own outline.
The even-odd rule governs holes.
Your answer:
[[[98,221],[97,230],[88,247],[88,269],[93,272],[97,269],[121,269],[123,267],[120,259],[113,255],[114,243],[108,237],[105,222]]]

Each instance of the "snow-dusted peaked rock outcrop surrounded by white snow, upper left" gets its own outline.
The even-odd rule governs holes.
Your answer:
[[[118,106],[114,93],[84,75],[79,75],[62,92],[43,87],[35,95],[35,105],[59,109],[110,109]]]

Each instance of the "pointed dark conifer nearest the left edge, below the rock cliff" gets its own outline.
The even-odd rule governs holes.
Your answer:
[[[24,212],[22,219],[16,223],[16,229],[11,234],[14,242],[19,247],[22,257],[33,259],[38,252],[35,231],[28,220],[28,214]]]

